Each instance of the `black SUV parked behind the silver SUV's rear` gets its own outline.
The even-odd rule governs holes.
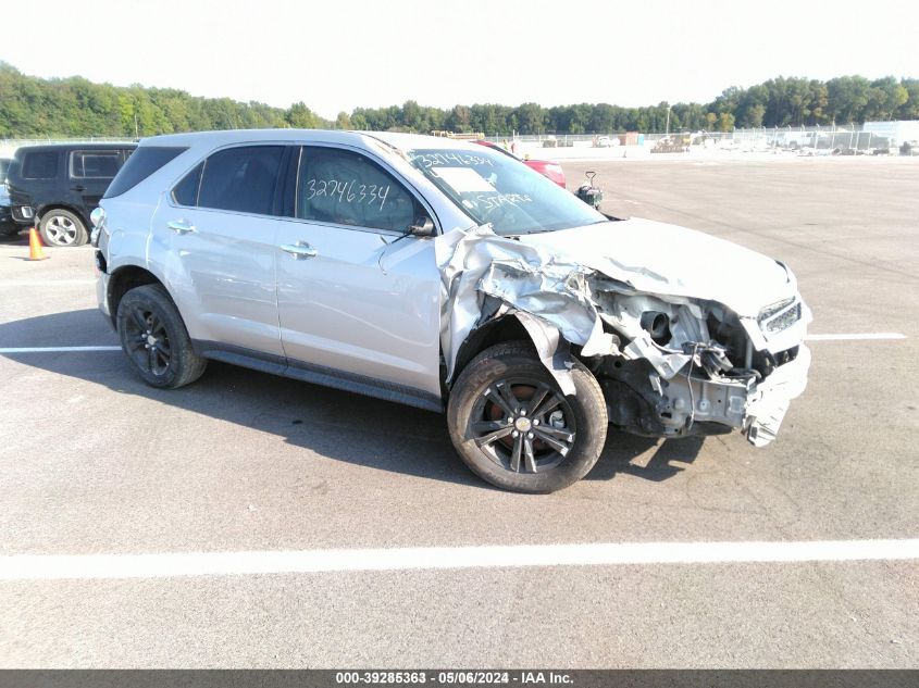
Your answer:
[[[46,245],[89,240],[89,213],[135,143],[24,146],[7,173],[13,221],[38,225]]]

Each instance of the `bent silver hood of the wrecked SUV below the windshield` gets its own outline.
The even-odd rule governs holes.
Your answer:
[[[636,291],[718,301],[738,315],[793,295],[771,258],[701,232],[633,217],[523,235],[520,242],[628,283]]]

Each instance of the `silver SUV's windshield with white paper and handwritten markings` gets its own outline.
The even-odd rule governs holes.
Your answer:
[[[419,149],[411,164],[476,224],[514,236],[606,222],[600,213],[522,162],[499,152]]]

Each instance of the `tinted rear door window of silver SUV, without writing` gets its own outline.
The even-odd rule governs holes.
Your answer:
[[[198,205],[260,215],[275,211],[283,146],[246,146],[218,151],[204,161]]]

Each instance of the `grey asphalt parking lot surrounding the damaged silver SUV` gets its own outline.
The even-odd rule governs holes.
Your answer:
[[[903,337],[814,341],[766,449],[612,431],[586,479],[522,496],[473,477],[435,414],[222,364],[164,392],[119,351],[11,352],[117,342],[88,248],[0,243],[0,556],[150,555],[0,580],[0,665],[919,667],[916,559],[145,575],[208,552],[919,538],[919,159],[567,162],[569,188],[587,168],[609,213],[785,261],[812,333]]]

